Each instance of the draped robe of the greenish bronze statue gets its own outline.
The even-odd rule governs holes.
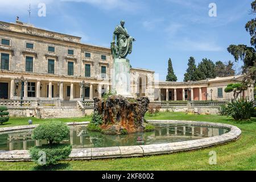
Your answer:
[[[117,36],[118,56],[125,58],[133,49],[133,38],[121,25],[115,27],[114,34]]]

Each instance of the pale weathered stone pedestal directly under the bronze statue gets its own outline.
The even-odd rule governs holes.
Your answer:
[[[118,95],[126,98],[133,98],[130,92],[130,68],[129,59],[114,59],[112,92],[117,92]]]

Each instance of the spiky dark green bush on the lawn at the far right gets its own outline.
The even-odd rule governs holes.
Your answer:
[[[226,113],[235,120],[250,119],[254,113],[254,101],[247,101],[244,98],[232,101],[228,104]]]

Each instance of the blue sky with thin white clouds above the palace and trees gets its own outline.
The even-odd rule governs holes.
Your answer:
[[[46,17],[38,16],[38,4],[46,3]],[[217,17],[210,17],[209,3],[216,3]],[[82,37],[82,42],[109,47],[114,27],[121,19],[137,39],[128,56],[134,68],[167,75],[171,57],[178,81],[183,80],[190,56],[229,61],[230,44],[250,44],[245,24],[252,0],[0,0],[2,21],[15,22],[16,15],[39,28]],[[241,64],[236,64],[239,68]],[[239,72],[239,69],[238,69]]]

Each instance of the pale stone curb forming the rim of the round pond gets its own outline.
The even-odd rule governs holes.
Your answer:
[[[170,120],[166,120],[166,121],[151,120],[148,122],[150,123],[181,123],[181,124],[184,123],[184,124],[191,124],[196,126],[224,127],[226,129],[230,129],[230,131],[229,133],[223,134],[221,136],[190,140],[190,141],[184,141],[184,142],[148,144],[144,146],[73,148],[71,155],[69,155],[68,160],[90,160],[90,159],[121,158],[121,157],[131,157],[131,156],[146,156],[146,155],[156,155],[156,154],[170,154],[172,152],[197,150],[200,148],[216,146],[217,144],[223,144],[223,143],[237,140],[241,136],[241,130],[238,127],[232,126],[232,125],[226,125],[222,123],[210,123],[210,122],[198,122],[198,121],[195,121],[195,122],[194,121],[170,121]],[[87,124],[87,122],[83,124]],[[69,123],[69,125],[73,125],[73,123]],[[23,129],[23,127],[22,126],[13,127],[13,129],[16,128],[16,130],[19,130],[20,128]],[[32,126],[30,128],[32,128]],[[9,131],[12,131],[12,130],[9,129]],[[27,150],[0,151],[0,161],[18,162],[18,161],[30,161],[30,160],[31,160],[30,155]]]

